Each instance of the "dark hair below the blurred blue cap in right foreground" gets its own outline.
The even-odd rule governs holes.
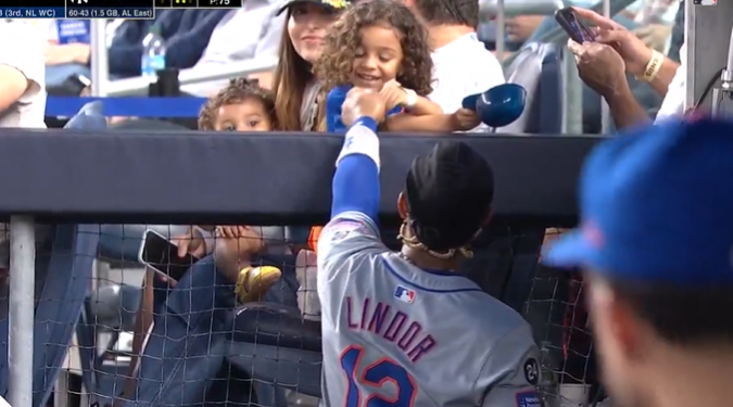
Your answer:
[[[699,346],[733,343],[733,288],[607,280],[611,290],[665,340]]]

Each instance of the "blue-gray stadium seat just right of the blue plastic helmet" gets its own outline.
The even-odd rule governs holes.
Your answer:
[[[508,82],[527,89],[527,107],[517,120],[497,129],[497,132],[563,132],[563,48],[555,43],[528,43],[519,51],[505,75]]]

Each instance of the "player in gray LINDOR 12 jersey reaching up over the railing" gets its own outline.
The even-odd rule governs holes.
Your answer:
[[[513,309],[454,272],[491,215],[493,174],[468,145],[418,156],[397,200],[403,249],[381,243],[378,93],[350,92],[350,126],[318,240],[326,406],[538,407],[538,348]]]

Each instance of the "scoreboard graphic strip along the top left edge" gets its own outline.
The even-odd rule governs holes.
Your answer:
[[[156,9],[239,9],[242,0],[4,0],[0,18],[155,17]]]

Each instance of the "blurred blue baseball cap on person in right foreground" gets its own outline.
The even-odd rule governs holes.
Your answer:
[[[544,263],[617,281],[733,284],[733,122],[675,120],[601,143],[582,169],[580,213]]]

